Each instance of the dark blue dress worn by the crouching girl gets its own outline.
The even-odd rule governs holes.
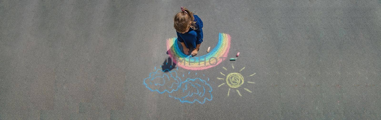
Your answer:
[[[176,32],[177,40],[181,43],[184,43],[187,48],[189,48],[189,45],[192,45],[193,48],[195,48],[196,44],[202,43],[202,38],[203,38],[202,21],[199,16],[197,15],[193,15],[193,16],[194,16],[194,21],[196,22],[195,23],[196,30],[189,28],[189,31],[184,34]]]

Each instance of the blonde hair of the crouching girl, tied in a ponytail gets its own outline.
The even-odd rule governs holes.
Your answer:
[[[179,33],[184,33],[190,27],[196,30],[196,22],[194,22],[194,13],[184,8],[184,11],[174,15],[173,27]]]

